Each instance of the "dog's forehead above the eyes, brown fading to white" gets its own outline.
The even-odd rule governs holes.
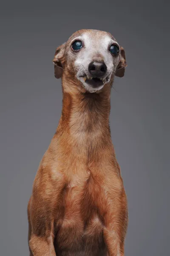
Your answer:
[[[82,29],[75,32],[67,41],[67,46],[69,47],[71,43],[75,40],[81,40],[85,47],[98,47],[103,46],[107,48],[113,43],[117,43],[116,39],[108,32],[100,30]]]

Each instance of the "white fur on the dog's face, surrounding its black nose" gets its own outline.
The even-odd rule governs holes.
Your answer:
[[[112,73],[116,70],[116,66],[114,67],[113,63],[113,57],[111,55],[111,52],[108,51],[108,47],[113,43],[117,44],[117,42],[113,41],[113,39],[109,35],[100,34],[92,36],[89,35],[89,33],[82,34],[81,36],[77,37],[76,40],[80,40],[83,42],[83,47],[78,52],[77,58],[74,62],[77,70],[77,79],[82,82],[84,87],[89,92],[95,92],[96,90],[102,89],[104,84],[110,81]],[[91,63],[91,61],[95,61],[95,56],[97,55],[100,55],[102,57],[103,61],[107,66],[107,73],[105,75],[107,81],[105,81],[105,83],[102,84],[100,87],[93,88],[84,81],[82,76],[86,75],[87,77],[90,77],[90,74],[88,72],[88,65]]]

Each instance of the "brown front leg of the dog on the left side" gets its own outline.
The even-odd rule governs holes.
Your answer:
[[[64,187],[62,175],[50,175],[49,168],[37,172],[30,202],[31,236],[29,247],[33,256],[56,256],[54,249],[54,219],[59,196]]]

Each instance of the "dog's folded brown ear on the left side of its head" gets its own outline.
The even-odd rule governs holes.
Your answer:
[[[62,63],[64,58],[64,51],[65,51],[65,43],[57,47],[55,52],[55,57],[53,59],[54,63],[54,76],[55,78],[61,78],[62,77]]]

